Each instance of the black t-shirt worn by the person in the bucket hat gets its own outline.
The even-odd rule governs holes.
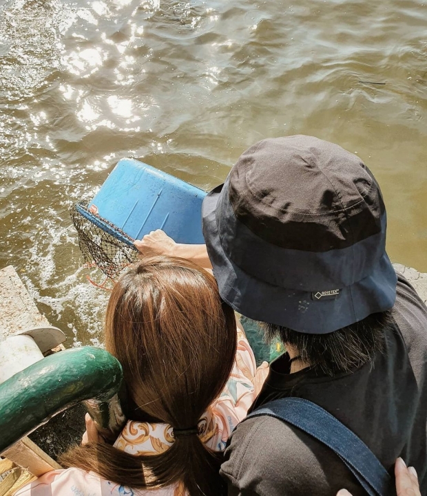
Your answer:
[[[397,457],[415,466],[427,495],[427,308],[399,276],[393,325],[373,363],[334,377],[289,374],[289,356],[271,364],[254,407],[296,396],[315,402],[356,433],[393,474]],[[329,448],[296,427],[262,416],[238,425],[221,475],[229,495],[335,496],[366,493]]]

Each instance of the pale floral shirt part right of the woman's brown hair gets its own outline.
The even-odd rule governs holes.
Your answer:
[[[231,432],[247,415],[257,392],[255,356],[244,332],[238,328],[236,360],[227,385],[211,407],[216,433],[206,444],[215,451],[223,451]]]

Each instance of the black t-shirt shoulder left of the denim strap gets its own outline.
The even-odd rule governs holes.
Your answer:
[[[269,416],[238,425],[225,451],[221,475],[233,488],[229,493],[238,495],[326,496],[342,487],[360,494],[353,475],[335,453],[300,429]]]

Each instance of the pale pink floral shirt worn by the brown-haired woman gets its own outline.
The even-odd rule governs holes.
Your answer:
[[[246,336],[238,330],[236,361],[227,385],[198,423],[199,435],[209,448],[223,451],[231,431],[256,398],[255,357]],[[129,420],[114,446],[132,455],[163,453],[174,442],[171,426]],[[182,496],[178,485],[140,490],[119,486],[79,468],[48,472],[24,486],[15,496]]]

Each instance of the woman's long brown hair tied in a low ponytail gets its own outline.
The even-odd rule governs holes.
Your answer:
[[[225,386],[236,354],[236,320],[215,279],[184,259],[151,257],[116,283],[105,345],[123,365],[130,420],[194,427]],[[192,495],[219,495],[221,455],[198,435],[176,436],[158,455],[130,455],[108,444],[72,449],[63,466],[94,471],[132,488],[178,483]]]

